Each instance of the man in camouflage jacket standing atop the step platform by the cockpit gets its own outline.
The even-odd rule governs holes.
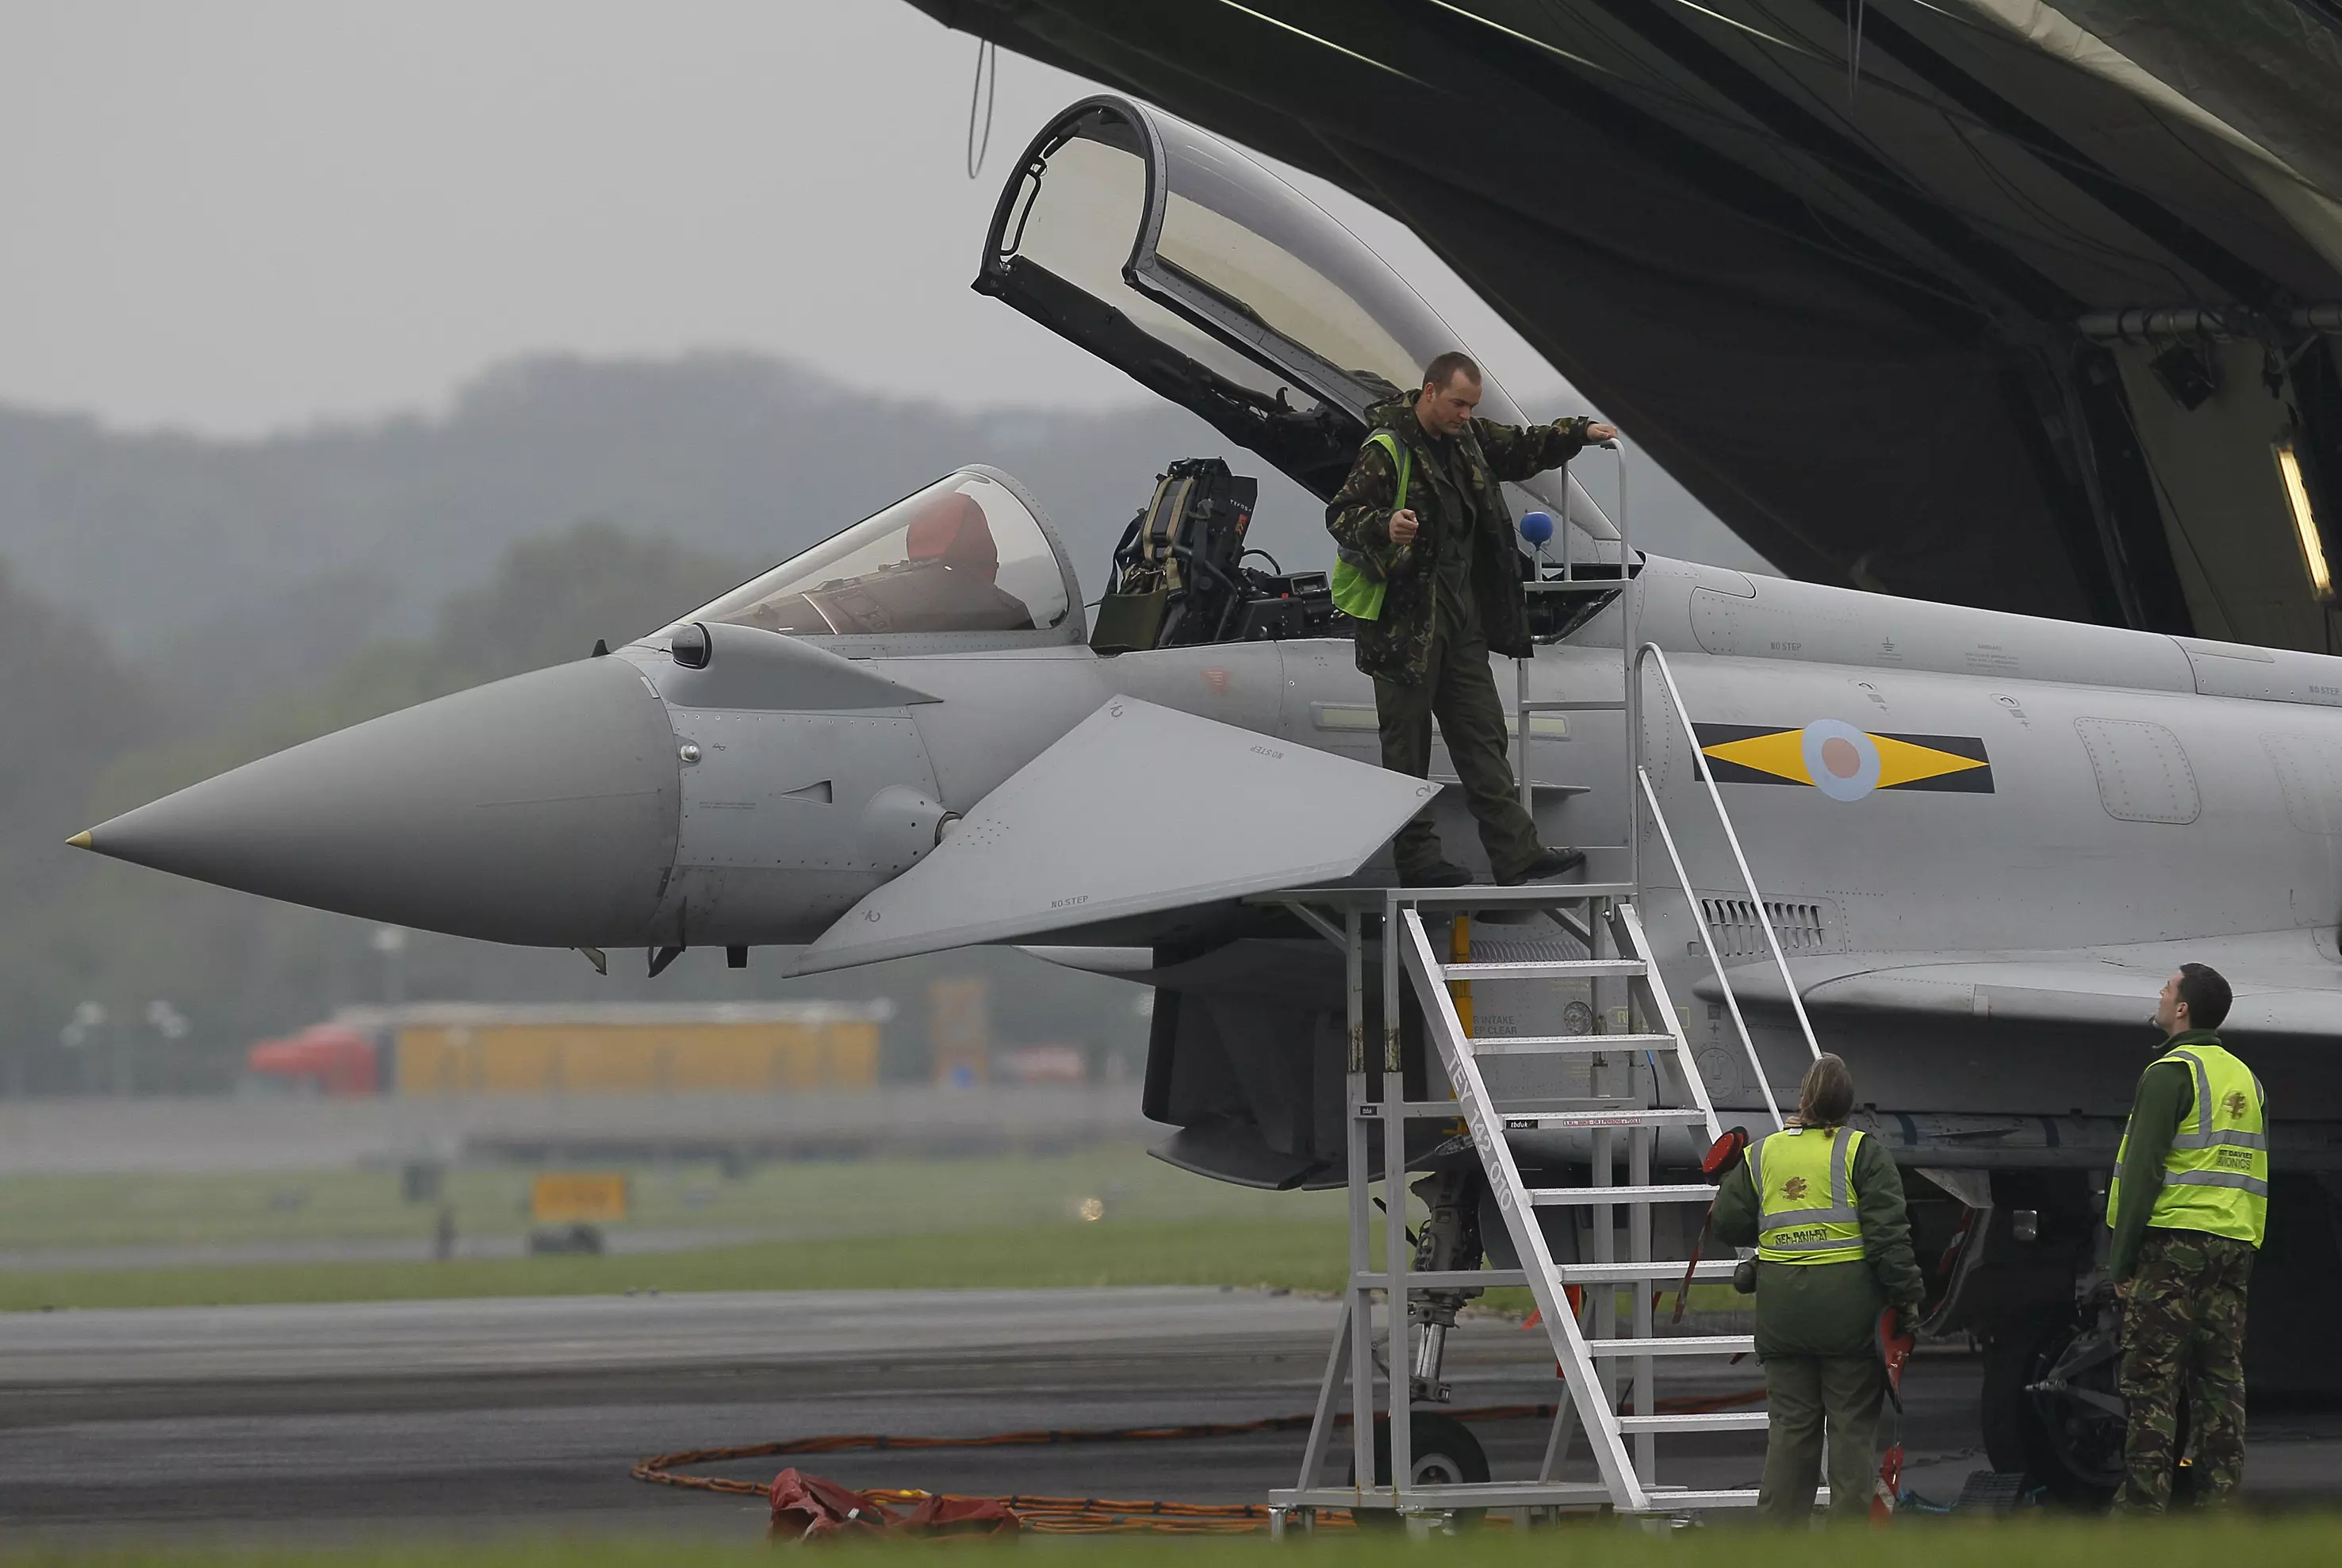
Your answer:
[[[1586,855],[1536,841],[1506,755],[1504,703],[1487,656],[1494,649],[1527,659],[1536,649],[1522,612],[1513,516],[1497,483],[1555,469],[1618,431],[1583,417],[1527,429],[1494,424],[1473,417],[1478,405],[1480,366],[1440,354],[1419,391],[1370,408],[1372,436],[1326,509],[1326,527],[1342,563],[1379,588],[1372,616],[1356,621],[1356,656],[1375,677],[1382,766],[1429,776],[1438,717],[1487,863],[1497,881],[1513,886],[1560,877]],[[1356,605],[1344,609],[1361,614]],[[1393,851],[1398,879],[1410,888],[1471,881],[1471,872],[1440,853],[1429,806],[1398,830]]]

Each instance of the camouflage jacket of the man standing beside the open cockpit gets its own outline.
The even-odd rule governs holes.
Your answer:
[[[1391,544],[1398,464],[1391,462],[1379,441],[1368,441],[1358,448],[1342,490],[1326,506],[1326,532],[1335,537],[1335,544],[1354,558],[1363,555],[1389,581],[1382,619],[1354,621],[1358,668],[1401,684],[1415,684],[1424,677],[1438,609],[1426,546],[1464,520],[1475,523],[1473,598],[1487,645],[1511,659],[1527,656],[1532,652],[1529,626],[1520,602],[1527,555],[1513,539],[1513,513],[1497,485],[1499,480],[1525,480],[1576,457],[1586,448],[1588,420],[1532,427],[1473,420],[1454,438],[1457,469],[1464,471],[1464,483],[1473,492],[1471,506],[1466,506],[1464,490],[1457,488],[1457,476],[1433,455],[1431,438],[1415,422],[1415,394],[1375,403],[1365,410],[1365,420],[1368,429],[1386,429],[1408,443],[1412,452],[1408,511],[1415,513],[1422,532],[1412,548],[1401,551]]]

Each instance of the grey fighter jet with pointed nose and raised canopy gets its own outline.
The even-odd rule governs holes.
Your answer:
[[[1368,405],[1459,347],[1260,162],[1122,98],[1030,143],[977,288],[1321,497]],[[1482,413],[1522,417],[1494,384]],[[1438,788],[1445,752],[1431,780],[1377,766],[1326,574],[1248,565],[1248,480],[1169,462],[1134,499],[1096,623],[1040,497],[965,466],[635,642],[75,841],[595,963],[644,949],[651,973],[696,947],[799,947],[789,963],[817,973],[1026,945],[1157,987],[1145,1111],[1176,1130],[1166,1158],[1340,1184],[1342,959],[1253,895],[1389,881],[1384,846],[1426,799],[1452,853],[1473,834]],[[1939,1322],[1991,1343],[1995,1463],[2082,1491],[2112,1463],[2103,1404],[2049,1373],[2087,1327],[2094,1184],[2180,961],[2232,980],[2225,1034],[2276,1120],[2255,1350],[2288,1357],[2293,1385],[2342,1380],[2321,1324],[2281,1305],[2342,1282],[2319,1186],[2342,1167],[2342,659],[1759,579],[1630,548],[1574,485],[1513,499],[1560,520],[1522,577],[1567,558],[1590,584],[1536,595],[1543,645],[1499,670],[1527,698],[1546,839],[1616,877],[1630,830],[1663,867],[1651,834],[1675,825],[1686,874],[1637,905],[1728,1113],[1759,1118],[1766,1085],[1707,945],[1766,1078],[1806,1059],[1792,1003],[1850,1059],[1867,1125],[1932,1177],[1916,1193],[1942,1193],[1920,1228],[1951,1259]],[[1639,642],[1682,701],[1623,659]],[[1637,764],[1658,813],[1630,809]],[[1710,788],[1761,907],[1735,891]]]

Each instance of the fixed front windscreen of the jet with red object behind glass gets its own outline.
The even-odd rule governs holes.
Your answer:
[[[918,652],[937,635],[949,635],[951,647],[1077,642],[1073,584],[1056,537],[1016,483],[998,469],[970,466],[684,621],[792,638],[874,638],[899,652]]]

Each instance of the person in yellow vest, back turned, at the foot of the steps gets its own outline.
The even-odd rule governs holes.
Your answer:
[[[1927,1294],[1911,1259],[1902,1177],[1885,1146],[1845,1125],[1855,1076],[1822,1055],[1796,1090],[1796,1120],[1749,1146],[1717,1191],[1717,1238],[1756,1247],[1756,1359],[1764,1362],[1768,1523],[1813,1516],[1829,1430],[1829,1514],[1867,1519],[1878,1467],[1878,1313],[1909,1327]]]

